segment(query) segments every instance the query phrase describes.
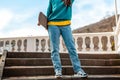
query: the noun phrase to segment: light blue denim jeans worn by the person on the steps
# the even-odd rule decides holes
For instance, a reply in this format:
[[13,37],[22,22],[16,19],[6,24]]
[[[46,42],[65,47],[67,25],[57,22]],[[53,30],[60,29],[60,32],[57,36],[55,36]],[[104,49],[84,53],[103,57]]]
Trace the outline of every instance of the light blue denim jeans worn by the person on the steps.
[[68,49],[74,72],[78,72],[80,70],[82,71],[80,60],[76,52],[71,27],[70,26],[62,26],[62,27],[48,26],[48,33],[50,37],[51,59],[52,59],[55,72],[62,71],[62,65],[61,65],[61,60],[59,55],[60,35],[62,35],[64,43]]

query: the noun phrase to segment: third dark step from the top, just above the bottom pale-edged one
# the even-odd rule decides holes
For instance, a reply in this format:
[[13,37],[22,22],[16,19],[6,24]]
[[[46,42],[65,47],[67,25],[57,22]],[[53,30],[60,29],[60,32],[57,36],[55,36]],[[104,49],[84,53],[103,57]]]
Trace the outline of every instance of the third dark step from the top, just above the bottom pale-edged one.
[[[86,73],[92,75],[120,74],[120,66],[82,66]],[[73,75],[72,66],[63,66],[63,75]],[[4,68],[4,77],[54,75],[53,66],[11,66]]]

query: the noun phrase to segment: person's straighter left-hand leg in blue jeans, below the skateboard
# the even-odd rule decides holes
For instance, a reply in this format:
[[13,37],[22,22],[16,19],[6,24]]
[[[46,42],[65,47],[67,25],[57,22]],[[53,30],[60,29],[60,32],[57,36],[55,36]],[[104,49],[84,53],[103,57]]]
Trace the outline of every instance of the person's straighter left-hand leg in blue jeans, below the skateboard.
[[60,30],[57,26],[49,26],[48,33],[51,46],[51,59],[55,70],[55,75],[62,75],[61,60],[59,55]]

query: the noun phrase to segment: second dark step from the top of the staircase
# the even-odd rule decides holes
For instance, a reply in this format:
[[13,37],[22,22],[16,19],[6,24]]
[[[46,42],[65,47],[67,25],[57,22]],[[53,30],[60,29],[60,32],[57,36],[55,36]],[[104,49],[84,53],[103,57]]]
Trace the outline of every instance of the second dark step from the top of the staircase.
[[[83,66],[119,66],[120,59],[81,59]],[[62,65],[71,65],[68,58],[61,58]],[[7,58],[6,66],[52,66],[50,58]]]

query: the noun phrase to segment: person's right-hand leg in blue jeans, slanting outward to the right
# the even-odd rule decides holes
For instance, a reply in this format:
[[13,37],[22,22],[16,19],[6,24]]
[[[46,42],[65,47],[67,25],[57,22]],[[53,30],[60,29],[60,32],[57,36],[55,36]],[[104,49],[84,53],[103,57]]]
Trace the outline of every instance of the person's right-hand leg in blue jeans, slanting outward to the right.
[[65,45],[68,49],[74,72],[78,73],[79,71],[81,71],[83,74],[85,74],[85,72],[81,68],[81,63],[78,58],[78,54],[76,52],[74,39],[72,36],[72,31],[71,31],[70,26],[61,27],[60,31],[61,31],[62,37],[64,39]]

